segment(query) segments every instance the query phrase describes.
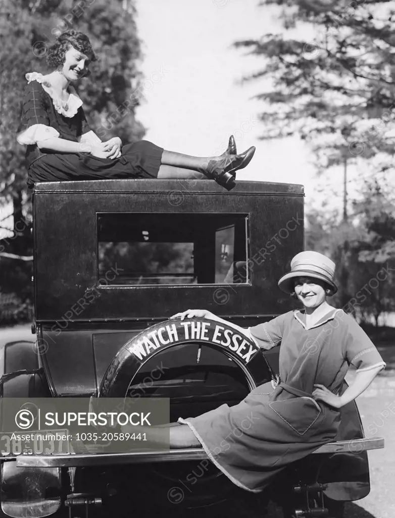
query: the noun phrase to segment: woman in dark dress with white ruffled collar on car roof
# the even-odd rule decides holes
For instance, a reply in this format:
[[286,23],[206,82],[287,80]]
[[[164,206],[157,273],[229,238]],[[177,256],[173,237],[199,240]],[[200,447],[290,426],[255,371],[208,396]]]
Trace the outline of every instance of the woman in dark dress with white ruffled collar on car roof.
[[49,74],[26,74],[22,129],[27,146],[28,185],[34,182],[108,178],[213,179],[228,191],[236,171],[246,167],[255,148],[237,154],[233,136],[220,156],[190,156],[166,151],[147,140],[122,145],[119,137],[102,142],[90,130],[82,100],[72,84],[89,74],[97,58],[89,38],[69,30],[47,53]]

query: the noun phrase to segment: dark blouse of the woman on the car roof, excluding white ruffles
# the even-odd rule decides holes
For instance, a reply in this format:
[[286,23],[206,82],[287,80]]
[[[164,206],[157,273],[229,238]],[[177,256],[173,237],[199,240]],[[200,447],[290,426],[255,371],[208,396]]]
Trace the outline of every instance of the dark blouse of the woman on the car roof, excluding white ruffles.
[[[59,138],[78,142],[79,137],[90,131],[84,110],[80,107],[74,117],[65,117],[58,113],[52,103],[51,96],[45,92],[41,84],[31,81],[25,87],[22,100],[22,118],[19,131],[27,130],[34,124],[51,126],[59,132]],[[36,144],[26,148],[26,161],[29,167],[39,159],[43,153]]]

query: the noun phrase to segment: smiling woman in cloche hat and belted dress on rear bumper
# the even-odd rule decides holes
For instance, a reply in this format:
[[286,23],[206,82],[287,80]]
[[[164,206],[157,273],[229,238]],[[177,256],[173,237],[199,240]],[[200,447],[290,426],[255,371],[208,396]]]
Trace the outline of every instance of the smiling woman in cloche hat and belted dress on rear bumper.
[[[328,304],[327,297],[337,291],[334,274],[335,264],[326,256],[297,254],[291,272],[278,284],[303,309],[248,329],[206,310],[172,316],[223,322],[262,349],[280,342],[281,347],[277,383],[256,387],[233,407],[221,405],[196,418],[179,418],[180,425],[169,428],[171,448],[201,445],[237,486],[260,492],[287,464],[336,438],[340,409],[366,390],[386,364],[357,322]],[[355,382],[339,395],[350,365],[357,369]],[[150,427],[149,437],[162,441],[163,428]]]

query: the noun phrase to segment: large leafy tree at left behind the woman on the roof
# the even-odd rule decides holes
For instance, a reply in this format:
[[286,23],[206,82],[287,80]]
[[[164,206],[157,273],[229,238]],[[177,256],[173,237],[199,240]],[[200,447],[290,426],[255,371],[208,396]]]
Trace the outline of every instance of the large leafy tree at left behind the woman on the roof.
[[[92,128],[102,130],[103,140],[119,135],[124,143],[140,140],[144,135],[144,128],[134,115],[139,104],[139,95],[134,92],[139,91],[141,82],[138,70],[141,49],[131,0],[2,0],[0,209],[11,204],[17,238],[3,239],[0,251],[32,254],[31,225],[25,224],[31,220],[31,205],[26,187],[24,147],[16,141],[25,74],[29,71],[48,73],[45,63],[48,48],[58,34],[69,28],[86,32],[99,58],[92,67],[92,75],[83,80],[79,88]],[[119,105],[130,98],[132,102],[119,110]],[[8,281],[12,279],[18,295],[32,298],[29,281],[32,265],[9,258],[0,258],[0,261],[0,291],[11,290]]]

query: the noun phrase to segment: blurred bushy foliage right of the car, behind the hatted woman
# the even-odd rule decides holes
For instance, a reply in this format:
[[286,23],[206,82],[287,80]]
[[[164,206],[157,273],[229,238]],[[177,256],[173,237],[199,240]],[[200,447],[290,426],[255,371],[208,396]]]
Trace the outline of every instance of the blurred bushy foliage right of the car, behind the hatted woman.
[[395,212],[388,193],[367,182],[347,222],[315,211],[308,215],[306,248],[337,264],[335,302],[361,321],[395,311]]

